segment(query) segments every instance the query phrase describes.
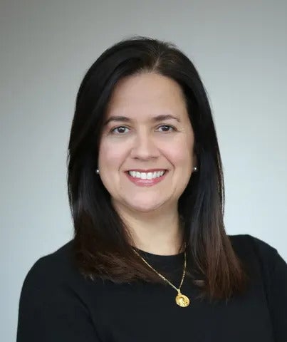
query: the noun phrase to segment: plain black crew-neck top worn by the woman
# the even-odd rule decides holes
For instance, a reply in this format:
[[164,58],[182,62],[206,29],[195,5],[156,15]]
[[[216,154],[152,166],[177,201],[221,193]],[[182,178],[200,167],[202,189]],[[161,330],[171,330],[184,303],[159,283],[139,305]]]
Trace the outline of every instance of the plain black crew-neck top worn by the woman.
[[[168,284],[113,284],[85,280],[73,266],[72,242],[42,257],[28,272],[21,291],[17,342],[286,342],[287,265],[276,249],[250,235],[229,237],[248,262],[251,284],[227,304],[190,299],[177,306]],[[179,286],[184,254],[145,253],[152,266],[174,270]]]

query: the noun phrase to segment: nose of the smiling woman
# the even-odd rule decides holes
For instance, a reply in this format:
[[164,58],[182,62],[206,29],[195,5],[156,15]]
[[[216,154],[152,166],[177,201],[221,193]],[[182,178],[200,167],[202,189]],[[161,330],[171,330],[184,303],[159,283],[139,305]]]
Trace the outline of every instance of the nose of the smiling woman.
[[150,160],[160,155],[155,140],[147,133],[138,133],[132,143],[131,157]]

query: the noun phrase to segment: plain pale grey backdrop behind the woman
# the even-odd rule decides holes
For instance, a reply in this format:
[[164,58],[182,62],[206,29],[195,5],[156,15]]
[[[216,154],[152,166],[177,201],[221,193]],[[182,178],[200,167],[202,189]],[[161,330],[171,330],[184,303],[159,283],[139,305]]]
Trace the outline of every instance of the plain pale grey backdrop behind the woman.
[[133,35],[177,44],[212,105],[228,234],[287,259],[287,1],[0,1],[0,338],[33,263],[73,235],[66,150],[85,71]]

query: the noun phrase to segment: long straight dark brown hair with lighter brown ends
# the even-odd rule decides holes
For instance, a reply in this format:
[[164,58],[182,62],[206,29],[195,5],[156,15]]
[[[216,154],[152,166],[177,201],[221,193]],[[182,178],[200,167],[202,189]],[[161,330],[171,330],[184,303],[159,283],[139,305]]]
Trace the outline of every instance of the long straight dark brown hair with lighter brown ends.
[[95,175],[103,118],[113,89],[121,78],[146,72],[177,81],[194,130],[199,171],[192,173],[178,205],[187,253],[194,261],[189,276],[202,296],[229,299],[244,290],[246,273],[224,229],[224,176],[207,93],[189,58],[174,44],[153,38],[136,36],[111,46],[80,84],[67,160],[76,264],[92,279],[162,281],[133,251],[128,229]]

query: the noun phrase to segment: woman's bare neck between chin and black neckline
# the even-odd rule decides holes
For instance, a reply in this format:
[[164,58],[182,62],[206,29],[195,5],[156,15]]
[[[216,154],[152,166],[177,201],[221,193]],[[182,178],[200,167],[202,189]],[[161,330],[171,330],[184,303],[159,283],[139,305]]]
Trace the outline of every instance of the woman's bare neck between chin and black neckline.
[[127,226],[133,247],[157,255],[183,252],[184,231],[177,208],[157,213],[132,213],[123,208],[117,211]]

